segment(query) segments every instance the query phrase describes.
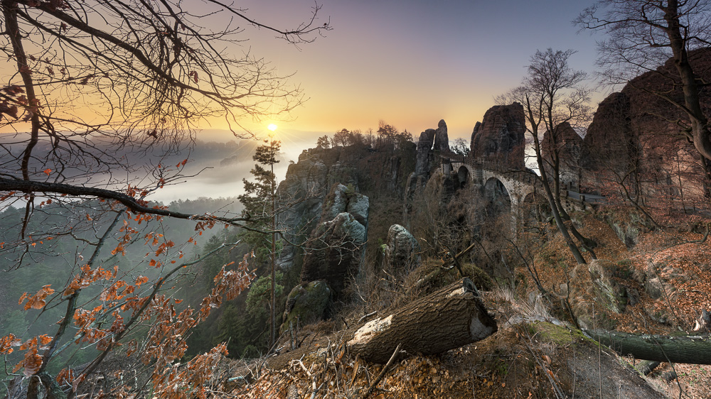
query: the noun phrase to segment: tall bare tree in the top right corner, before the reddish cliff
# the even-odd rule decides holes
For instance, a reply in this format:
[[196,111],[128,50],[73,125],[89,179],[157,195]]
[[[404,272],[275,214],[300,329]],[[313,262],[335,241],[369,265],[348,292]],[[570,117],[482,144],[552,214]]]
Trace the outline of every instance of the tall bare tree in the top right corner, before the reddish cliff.
[[[644,89],[688,116],[683,133],[702,157],[709,180],[711,128],[700,100],[700,92],[709,82],[700,79],[690,62],[690,52],[711,45],[711,4],[688,0],[600,0],[582,11],[574,22],[608,34],[599,43],[598,61],[608,82],[629,82],[648,71],[665,78],[671,89]],[[673,59],[675,73],[658,69],[669,58]],[[673,95],[677,88],[683,96]]]

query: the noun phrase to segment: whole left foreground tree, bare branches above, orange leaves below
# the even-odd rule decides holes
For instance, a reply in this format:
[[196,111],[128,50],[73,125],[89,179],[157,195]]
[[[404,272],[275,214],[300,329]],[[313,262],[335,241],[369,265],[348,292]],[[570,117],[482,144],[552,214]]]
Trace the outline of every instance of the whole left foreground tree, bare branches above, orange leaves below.
[[[0,138],[0,207],[24,209],[20,221],[5,212],[0,222],[18,231],[0,243],[4,261],[12,263],[4,272],[65,255],[53,253],[50,240],[68,237],[76,248],[65,285],[40,284],[35,295],[21,297],[26,310],[62,309],[64,317],[54,331],[15,351],[25,356],[13,372],[24,369],[27,397],[36,398],[42,395],[38,386],[53,389],[55,378],[44,374],[50,360],[73,347],[94,347],[99,354],[87,366],[60,378],[72,396],[113,349],[125,345],[156,366],[150,375],[156,394],[160,387],[196,394],[173,385],[179,374],[173,361],[185,352],[186,332],[253,276],[246,258],[237,270],[225,266],[201,310],[178,313],[179,300],[166,291],[185,273],[183,266],[197,261],[178,261],[186,249],[181,243],[137,225],[189,219],[199,234],[217,222],[243,226],[250,219],[173,212],[147,199],[187,177],[184,153],[193,129],[223,119],[235,136],[252,136],[242,118],[278,117],[303,101],[299,87],[243,50],[250,29],[298,44],[329,30],[328,21],[318,20],[316,4],[304,23],[279,29],[220,0],[0,0],[0,9],[0,49],[12,65],[1,75],[0,129],[11,133]],[[167,163],[181,153],[184,160]],[[144,240],[151,247],[145,260],[119,268],[112,256]],[[43,278],[48,276],[38,275],[38,283]],[[144,344],[134,339],[141,329],[148,335]],[[20,338],[0,337],[0,354],[11,354]],[[178,385],[189,382],[183,380]]]

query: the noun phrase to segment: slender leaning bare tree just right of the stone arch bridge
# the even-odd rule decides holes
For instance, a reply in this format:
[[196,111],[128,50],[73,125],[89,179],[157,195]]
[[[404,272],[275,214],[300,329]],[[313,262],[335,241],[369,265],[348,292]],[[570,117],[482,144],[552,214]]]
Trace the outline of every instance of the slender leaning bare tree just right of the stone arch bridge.
[[[545,52],[536,51],[531,56],[528,75],[521,85],[499,96],[497,102],[523,104],[526,129],[533,136],[540,182],[545,190],[553,218],[575,260],[578,263],[585,263],[570,232],[588,250],[592,249],[591,245],[578,233],[572,223],[565,223],[570,221],[570,217],[560,201],[560,143],[557,140],[561,135],[558,129],[566,122],[577,126],[580,121],[587,119],[589,114],[589,106],[587,106],[589,90],[582,87],[582,82],[587,75],[585,72],[570,68],[568,58],[573,54],[573,50],[553,51],[550,48]],[[549,132],[547,138],[550,143],[546,143],[546,146],[550,149],[550,155],[544,158],[542,136],[546,131]]]

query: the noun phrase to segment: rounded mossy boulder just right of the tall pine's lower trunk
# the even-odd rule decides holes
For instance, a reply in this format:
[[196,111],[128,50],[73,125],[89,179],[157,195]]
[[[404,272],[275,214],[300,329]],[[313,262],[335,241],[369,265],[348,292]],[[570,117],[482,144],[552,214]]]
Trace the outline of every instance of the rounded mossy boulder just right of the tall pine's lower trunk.
[[287,297],[282,332],[289,328],[296,329],[297,324],[301,327],[324,319],[330,301],[331,288],[325,281],[296,285]]

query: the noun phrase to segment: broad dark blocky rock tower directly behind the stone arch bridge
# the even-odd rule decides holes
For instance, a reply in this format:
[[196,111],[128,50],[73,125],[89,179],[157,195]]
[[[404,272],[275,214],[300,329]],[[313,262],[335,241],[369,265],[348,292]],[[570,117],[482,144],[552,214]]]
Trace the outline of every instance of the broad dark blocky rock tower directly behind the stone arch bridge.
[[526,131],[523,105],[492,106],[471,133],[471,154],[475,159],[508,168],[525,168],[523,159]]

